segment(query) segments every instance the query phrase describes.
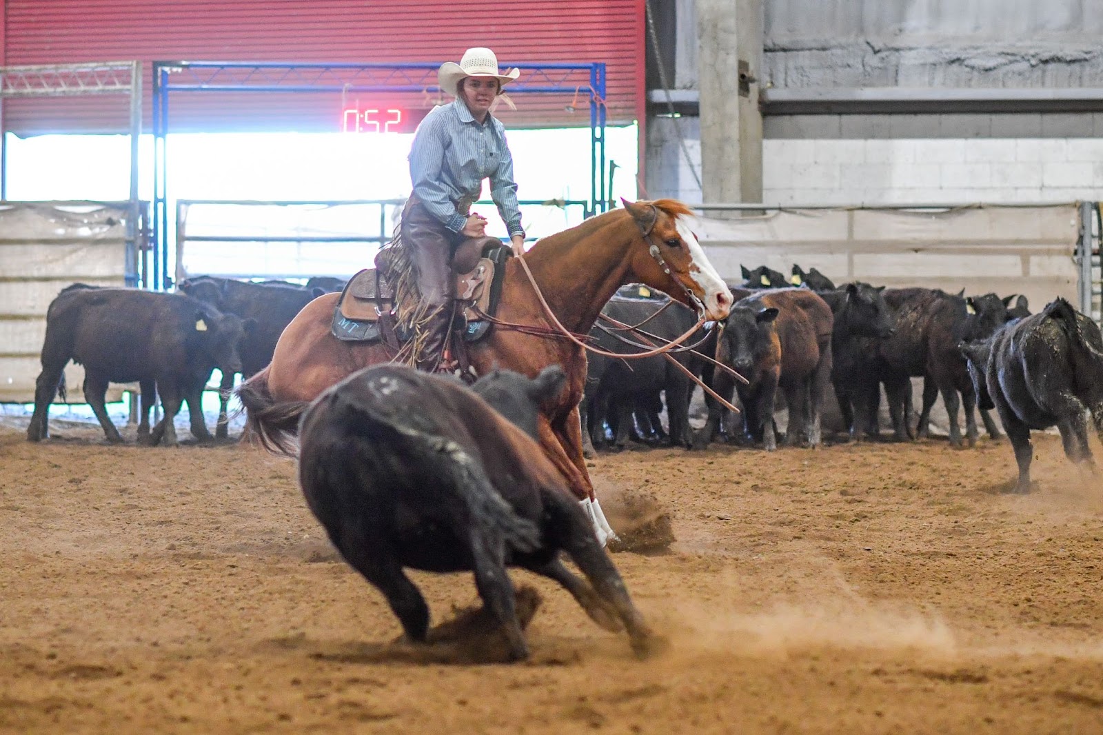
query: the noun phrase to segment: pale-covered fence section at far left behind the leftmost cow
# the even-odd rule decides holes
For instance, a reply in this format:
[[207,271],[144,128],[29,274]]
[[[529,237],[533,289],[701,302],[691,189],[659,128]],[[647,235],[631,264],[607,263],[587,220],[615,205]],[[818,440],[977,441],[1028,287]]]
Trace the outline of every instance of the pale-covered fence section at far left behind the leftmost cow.
[[[46,309],[74,283],[126,286],[138,270],[131,202],[0,202],[0,403],[34,401]],[[84,403],[84,369],[65,369],[69,403]],[[126,386],[113,385],[108,401]]]

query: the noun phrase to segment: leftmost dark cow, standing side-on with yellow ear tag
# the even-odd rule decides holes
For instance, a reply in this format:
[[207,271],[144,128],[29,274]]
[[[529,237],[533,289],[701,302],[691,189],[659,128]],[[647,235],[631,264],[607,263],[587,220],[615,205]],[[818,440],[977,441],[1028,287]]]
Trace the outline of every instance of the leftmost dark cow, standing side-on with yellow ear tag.
[[[237,343],[246,327],[234,315],[179,294],[65,289],[46,311],[42,373],[35,383],[34,414],[26,438],[39,441],[49,436],[50,403],[63,383],[65,365],[73,360],[84,365],[85,398],[108,441],[122,441],[104,407],[108,383],[136,381],[142,387],[142,423],[147,427],[154,384],[161,394],[164,418],[151,433],[152,444],[162,437],[168,445],[176,443],[173,418],[182,401],[188,402],[192,435],[210,440],[203,422],[203,388],[215,368],[240,370]],[[139,430],[141,435],[141,427]]]

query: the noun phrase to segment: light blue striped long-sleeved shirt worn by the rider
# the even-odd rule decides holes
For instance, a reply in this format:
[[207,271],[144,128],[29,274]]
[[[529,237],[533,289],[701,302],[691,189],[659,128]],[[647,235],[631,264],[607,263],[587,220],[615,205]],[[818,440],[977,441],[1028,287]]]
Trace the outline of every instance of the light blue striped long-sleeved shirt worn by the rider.
[[525,234],[505,127],[492,115],[480,124],[459,99],[435,108],[417,127],[409,161],[414,195],[452,232],[467,221],[457,202],[478,200],[482,180],[490,179],[491,199],[510,235]]

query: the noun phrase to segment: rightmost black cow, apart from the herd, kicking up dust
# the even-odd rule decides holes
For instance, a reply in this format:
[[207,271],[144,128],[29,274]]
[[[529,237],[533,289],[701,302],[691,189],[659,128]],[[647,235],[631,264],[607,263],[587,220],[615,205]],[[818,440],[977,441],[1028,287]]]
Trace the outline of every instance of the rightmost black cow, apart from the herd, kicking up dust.
[[982,408],[1004,422],[1019,466],[1016,492],[1030,491],[1030,429],[1057,426],[1064,454],[1095,470],[1085,412],[1103,441],[1103,337],[1064,299],[1011,322],[981,342],[963,342]]

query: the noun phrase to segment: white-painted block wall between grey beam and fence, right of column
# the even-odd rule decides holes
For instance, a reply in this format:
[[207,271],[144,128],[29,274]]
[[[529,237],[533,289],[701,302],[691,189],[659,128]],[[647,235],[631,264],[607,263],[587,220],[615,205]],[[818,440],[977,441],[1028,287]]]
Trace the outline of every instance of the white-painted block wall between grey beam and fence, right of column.
[[762,177],[771,204],[1103,200],[1103,139],[768,139]]

